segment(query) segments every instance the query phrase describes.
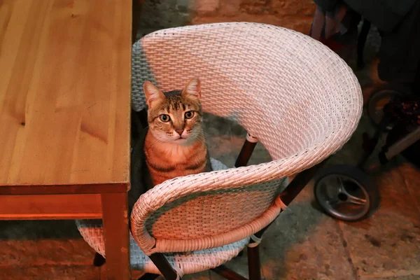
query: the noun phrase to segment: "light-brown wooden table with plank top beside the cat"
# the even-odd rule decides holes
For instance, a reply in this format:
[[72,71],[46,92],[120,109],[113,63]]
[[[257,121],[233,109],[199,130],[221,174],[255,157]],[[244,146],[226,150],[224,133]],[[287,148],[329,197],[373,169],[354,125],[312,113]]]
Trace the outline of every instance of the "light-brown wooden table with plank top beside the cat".
[[0,219],[102,218],[109,279],[130,278],[131,19],[131,0],[0,1]]

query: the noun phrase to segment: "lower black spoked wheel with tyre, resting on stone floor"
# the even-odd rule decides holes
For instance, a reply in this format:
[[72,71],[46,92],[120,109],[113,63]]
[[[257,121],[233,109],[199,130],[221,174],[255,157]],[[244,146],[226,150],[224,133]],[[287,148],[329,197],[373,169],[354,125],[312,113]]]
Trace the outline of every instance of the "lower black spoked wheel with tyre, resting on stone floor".
[[360,221],[379,206],[379,192],[367,174],[356,167],[337,165],[318,175],[314,194],[322,209],[342,221]]

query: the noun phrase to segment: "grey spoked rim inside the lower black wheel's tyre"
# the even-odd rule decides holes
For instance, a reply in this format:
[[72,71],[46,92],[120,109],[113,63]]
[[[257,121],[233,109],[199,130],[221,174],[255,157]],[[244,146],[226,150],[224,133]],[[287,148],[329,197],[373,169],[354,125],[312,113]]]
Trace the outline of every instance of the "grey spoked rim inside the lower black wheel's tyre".
[[340,174],[320,179],[316,184],[316,198],[325,211],[345,221],[363,218],[370,207],[365,188],[351,177]]

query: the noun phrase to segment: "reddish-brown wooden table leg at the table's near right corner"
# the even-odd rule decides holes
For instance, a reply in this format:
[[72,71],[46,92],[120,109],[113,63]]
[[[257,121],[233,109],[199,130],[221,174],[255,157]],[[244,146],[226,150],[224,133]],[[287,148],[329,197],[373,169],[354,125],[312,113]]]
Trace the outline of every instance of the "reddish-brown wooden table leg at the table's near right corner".
[[131,276],[127,193],[104,193],[101,197],[108,280],[128,280]]

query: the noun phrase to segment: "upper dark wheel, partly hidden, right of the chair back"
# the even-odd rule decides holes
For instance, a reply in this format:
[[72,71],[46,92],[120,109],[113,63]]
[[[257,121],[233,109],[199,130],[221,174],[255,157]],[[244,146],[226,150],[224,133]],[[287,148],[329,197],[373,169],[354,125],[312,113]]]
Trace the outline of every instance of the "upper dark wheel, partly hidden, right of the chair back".
[[[384,106],[394,97],[402,97],[412,94],[412,91],[404,85],[386,83],[377,87],[370,94],[367,102],[367,114],[374,125],[379,125],[384,117]],[[391,130],[392,124],[386,127],[386,130]]]

